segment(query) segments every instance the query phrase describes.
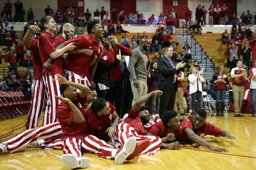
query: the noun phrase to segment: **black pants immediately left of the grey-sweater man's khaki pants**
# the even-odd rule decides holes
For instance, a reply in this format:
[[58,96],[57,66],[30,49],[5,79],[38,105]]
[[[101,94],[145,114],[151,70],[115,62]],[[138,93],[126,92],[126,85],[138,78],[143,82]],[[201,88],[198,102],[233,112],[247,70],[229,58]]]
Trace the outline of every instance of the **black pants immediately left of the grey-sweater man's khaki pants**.
[[131,82],[124,82],[123,86],[123,95],[122,95],[122,108],[121,108],[121,118],[126,114],[129,113],[130,109],[132,108],[132,100],[133,100],[133,94],[132,94],[132,86]]

